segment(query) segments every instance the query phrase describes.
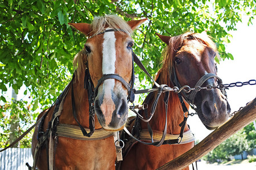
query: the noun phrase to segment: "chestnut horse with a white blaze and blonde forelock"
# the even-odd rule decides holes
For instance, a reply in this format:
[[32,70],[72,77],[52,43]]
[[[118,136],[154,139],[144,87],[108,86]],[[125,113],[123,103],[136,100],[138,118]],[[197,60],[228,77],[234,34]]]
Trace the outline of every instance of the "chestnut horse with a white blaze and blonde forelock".
[[[70,23],[88,40],[74,59],[77,69],[61,100],[38,117],[44,118],[32,138],[32,153],[38,153],[34,169],[115,168],[111,131],[121,130],[127,120],[127,97],[133,86],[131,33],[144,20],[126,23],[107,15],[91,24]],[[84,136],[85,128],[90,132],[83,131]]]

